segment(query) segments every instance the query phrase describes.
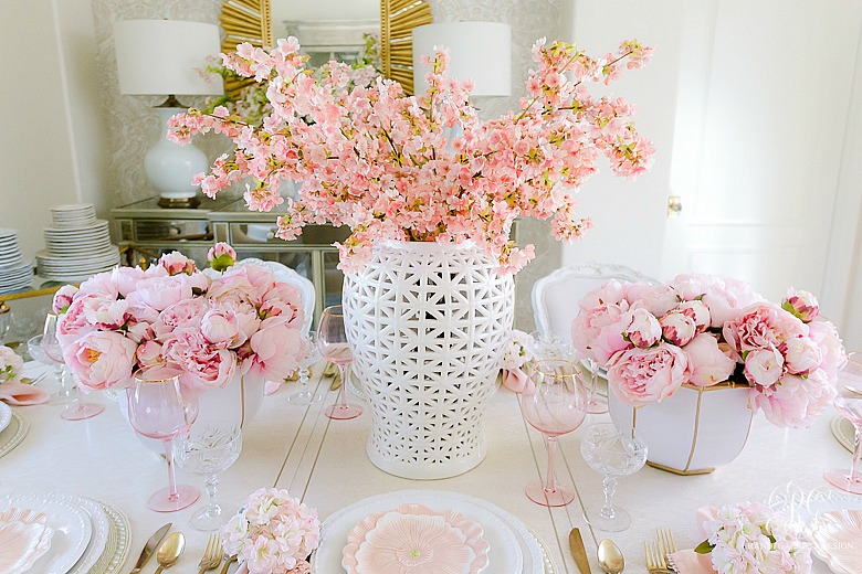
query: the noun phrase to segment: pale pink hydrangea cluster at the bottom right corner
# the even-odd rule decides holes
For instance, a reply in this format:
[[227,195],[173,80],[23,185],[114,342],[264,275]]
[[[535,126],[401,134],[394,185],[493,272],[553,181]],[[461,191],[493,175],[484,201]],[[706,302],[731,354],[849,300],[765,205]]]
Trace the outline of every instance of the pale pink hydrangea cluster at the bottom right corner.
[[706,540],[695,552],[709,554],[723,574],[808,574],[811,545],[769,507],[743,502],[697,511]]

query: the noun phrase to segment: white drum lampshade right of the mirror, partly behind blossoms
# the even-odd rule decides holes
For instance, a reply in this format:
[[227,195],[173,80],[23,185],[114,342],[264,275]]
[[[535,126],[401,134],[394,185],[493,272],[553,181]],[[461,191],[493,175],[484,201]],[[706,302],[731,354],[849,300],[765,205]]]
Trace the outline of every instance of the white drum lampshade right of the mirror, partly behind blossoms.
[[512,28],[496,22],[448,22],[413,29],[413,86],[417,94],[428,89],[428,66],[421,56],[434,55],[434,46],[445,46],[452,56],[449,74],[458,79],[473,78],[474,96],[512,95]]

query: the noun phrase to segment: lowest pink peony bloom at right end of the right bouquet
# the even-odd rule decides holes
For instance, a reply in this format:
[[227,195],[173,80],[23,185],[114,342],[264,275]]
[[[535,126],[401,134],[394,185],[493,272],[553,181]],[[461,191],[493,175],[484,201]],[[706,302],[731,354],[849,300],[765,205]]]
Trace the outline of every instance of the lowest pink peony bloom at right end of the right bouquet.
[[811,426],[835,398],[835,389],[822,369],[812,371],[808,376],[785,375],[769,391],[765,393],[753,387],[751,404],[761,408],[770,423],[791,428]]

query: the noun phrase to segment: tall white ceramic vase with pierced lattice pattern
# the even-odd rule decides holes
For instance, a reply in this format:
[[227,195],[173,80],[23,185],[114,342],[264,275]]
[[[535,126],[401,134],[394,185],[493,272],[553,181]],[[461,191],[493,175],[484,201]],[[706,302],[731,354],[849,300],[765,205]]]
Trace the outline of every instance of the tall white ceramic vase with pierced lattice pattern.
[[485,457],[485,401],[514,319],[515,284],[475,245],[387,242],[345,277],[353,369],[370,403],[367,453],[403,478]]

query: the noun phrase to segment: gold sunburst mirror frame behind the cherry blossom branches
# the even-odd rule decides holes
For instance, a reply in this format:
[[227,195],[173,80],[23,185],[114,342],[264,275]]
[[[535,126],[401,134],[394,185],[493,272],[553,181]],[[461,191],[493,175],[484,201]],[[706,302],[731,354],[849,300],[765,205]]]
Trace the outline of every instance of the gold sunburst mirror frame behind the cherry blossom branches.
[[[259,47],[271,46],[272,18],[270,0],[224,0],[219,15],[224,40],[222,52],[233,52],[236,44],[249,42]],[[399,82],[408,94],[413,93],[413,39],[411,31],[433,21],[431,6],[423,0],[380,0],[380,62],[386,77]],[[224,93],[236,98],[251,85],[251,78],[228,78]]]

